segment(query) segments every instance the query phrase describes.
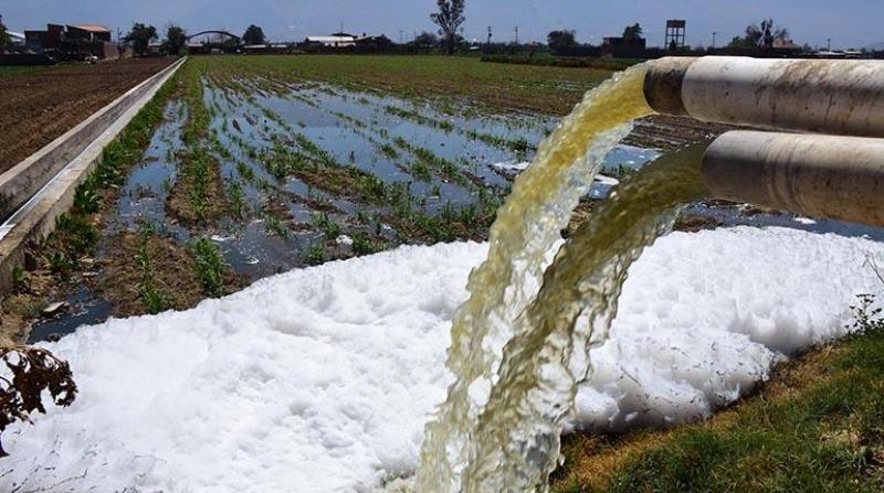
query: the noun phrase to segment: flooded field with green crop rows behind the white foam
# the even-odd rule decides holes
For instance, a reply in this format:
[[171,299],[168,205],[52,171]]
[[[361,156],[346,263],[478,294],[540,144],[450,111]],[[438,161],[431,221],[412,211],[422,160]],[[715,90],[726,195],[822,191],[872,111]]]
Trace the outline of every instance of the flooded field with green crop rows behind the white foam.
[[[18,323],[34,321],[32,341],[108,317],[186,309],[302,266],[403,244],[485,240],[513,179],[559,120],[430,90],[311,78],[297,71],[306,58],[286,60],[284,69],[261,57],[194,58],[182,68],[155,101],[140,147],[120,151],[125,159],[106,156],[127,164],[87,184],[78,193],[85,204],[35,248],[36,266],[22,272],[28,282],[13,300]],[[660,154],[614,148],[570,229]],[[722,203],[688,207],[676,227],[737,224],[881,237]]]

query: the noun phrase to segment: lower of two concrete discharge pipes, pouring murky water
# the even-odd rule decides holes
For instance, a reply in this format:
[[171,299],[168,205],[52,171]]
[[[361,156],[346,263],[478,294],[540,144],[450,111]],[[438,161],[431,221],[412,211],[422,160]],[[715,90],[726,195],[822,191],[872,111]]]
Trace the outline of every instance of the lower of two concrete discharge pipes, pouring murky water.
[[884,227],[884,139],[730,131],[703,175],[715,199]]

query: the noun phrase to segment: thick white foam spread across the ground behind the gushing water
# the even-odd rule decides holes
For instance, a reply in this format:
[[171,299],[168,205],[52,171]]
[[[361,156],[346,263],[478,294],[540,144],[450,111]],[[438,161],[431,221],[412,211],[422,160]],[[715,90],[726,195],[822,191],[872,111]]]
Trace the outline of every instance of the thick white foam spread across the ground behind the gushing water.
[[[404,247],[48,344],[81,394],[4,433],[0,490],[351,492],[408,473],[449,383],[449,322],[485,251]],[[780,228],[661,239],[591,354],[580,420],[708,416],[781,353],[844,333],[854,296],[877,289],[870,253],[884,259],[884,245]]]

